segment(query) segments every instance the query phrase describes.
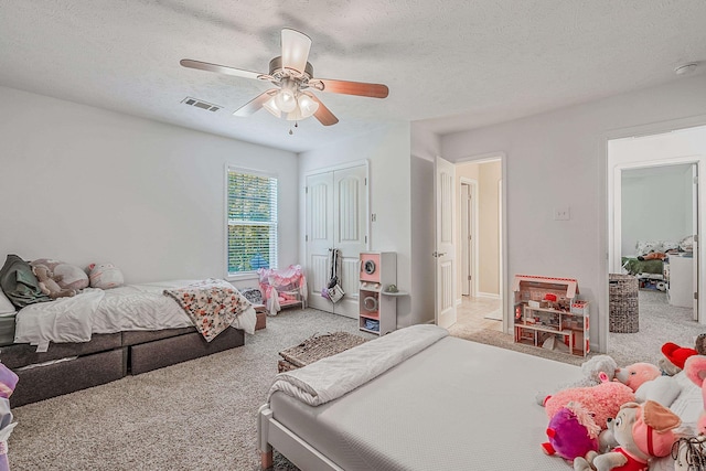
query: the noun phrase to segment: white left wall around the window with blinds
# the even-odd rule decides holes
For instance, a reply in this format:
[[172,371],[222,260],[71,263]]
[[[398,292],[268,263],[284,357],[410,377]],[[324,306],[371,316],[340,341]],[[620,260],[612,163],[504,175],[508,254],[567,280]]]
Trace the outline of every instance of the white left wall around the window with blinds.
[[296,154],[6,87],[0,103],[2,260],[111,261],[127,282],[224,277],[231,163],[278,174],[279,263],[297,263]]

